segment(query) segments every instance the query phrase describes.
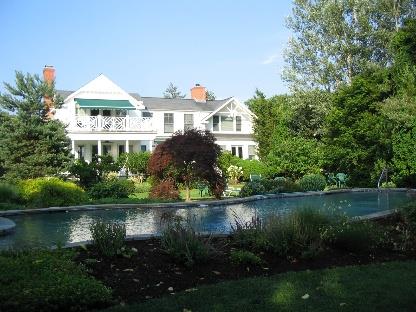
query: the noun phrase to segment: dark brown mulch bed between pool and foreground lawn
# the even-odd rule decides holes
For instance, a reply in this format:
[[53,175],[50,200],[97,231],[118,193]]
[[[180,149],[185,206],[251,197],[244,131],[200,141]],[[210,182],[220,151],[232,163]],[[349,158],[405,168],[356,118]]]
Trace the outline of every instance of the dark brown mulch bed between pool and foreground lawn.
[[[380,221],[381,223],[391,223]],[[237,266],[229,260],[232,243],[229,237],[214,238],[213,245],[218,254],[206,263],[188,268],[172,261],[163,252],[160,240],[129,241],[138,253],[131,258],[102,258],[89,247],[79,250],[77,261],[89,269],[91,275],[113,289],[119,302],[140,302],[150,298],[193,291],[200,285],[253,276],[268,276],[276,273],[314,270],[334,266],[368,264],[392,260],[416,259],[415,255],[391,250],[379,250],[371,254],[354,254],[341,250],[327,250],[313,259],[284,260],[273,254],[260,254],[261,266]],[[90,260],[90,259],[96,259]]]

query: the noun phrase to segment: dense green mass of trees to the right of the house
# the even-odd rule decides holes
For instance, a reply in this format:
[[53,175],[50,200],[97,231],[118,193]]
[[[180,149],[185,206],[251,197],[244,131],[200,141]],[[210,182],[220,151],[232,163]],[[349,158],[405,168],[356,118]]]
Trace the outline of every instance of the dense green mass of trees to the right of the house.
[[[305,3],[297,1],[294,14],[299,7],[313,6]],[[400,3],[402,7],[407,4]],[[378,49],[385,57],[377,62],[355,55],[354,59],[368,58],[357,61],[360,68],[350,78],[343,69],[346,79],[331,87],[297,80],[291,84],[290,95],[266,98],[256,91],[247,105],[257,115],[258,152],[272,175],[299,178],[305,173],[345,172],[349,185],[374,187],[382,169],[388,168],[398,186],[416,185],[416,20],[407,18],[414,8],[408,10],[396,16],[392,29],[384,29],[387,41]],[[302,14],[307,19],[305,15],[314,11]],[[299,57],[302,62],[312,61],[305,55]],[[305,70],[290,60],[287,69],[297,71],[298,77]],[[309,74],[310,79],[330,76],[319,71]]]

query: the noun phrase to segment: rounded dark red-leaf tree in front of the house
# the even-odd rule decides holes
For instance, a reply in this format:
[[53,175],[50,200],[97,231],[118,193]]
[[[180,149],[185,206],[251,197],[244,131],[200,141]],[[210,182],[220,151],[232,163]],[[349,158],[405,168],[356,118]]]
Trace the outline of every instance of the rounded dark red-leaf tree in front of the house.
[[220,152],[211,132],[178,131],[156,147],[148,171],[156,182],[171,179],[176,184],[183,184],[187,201],[192,184],[196,182],[206,183],[211,193],[220,198],[225,188],[225,178],[217,164]]

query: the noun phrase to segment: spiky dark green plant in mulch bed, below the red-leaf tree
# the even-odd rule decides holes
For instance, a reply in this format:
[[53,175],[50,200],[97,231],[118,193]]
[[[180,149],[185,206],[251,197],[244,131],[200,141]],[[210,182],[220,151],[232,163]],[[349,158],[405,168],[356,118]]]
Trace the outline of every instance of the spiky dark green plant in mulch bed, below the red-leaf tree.
[[188,267],[208,260],[212,252],[210,239],[199,235],[190,219],[168,217],[163,221],[161,246],[167,254]]

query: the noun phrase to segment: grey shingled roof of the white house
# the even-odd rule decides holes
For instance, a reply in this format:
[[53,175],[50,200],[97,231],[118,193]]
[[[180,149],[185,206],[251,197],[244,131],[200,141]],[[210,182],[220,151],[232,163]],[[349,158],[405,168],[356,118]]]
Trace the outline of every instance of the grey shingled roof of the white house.
[[[57,93],[66,99],[74,91],[57,90]],[[197,102],[193,99],[166,99],[158,97],[142,97],[137,93],[129,93],[138,101],[143,101],[143,105],[149,110],[164,111],[216,111],[224,105],[230,98],[224,100],[206,101],[205,103]]]

